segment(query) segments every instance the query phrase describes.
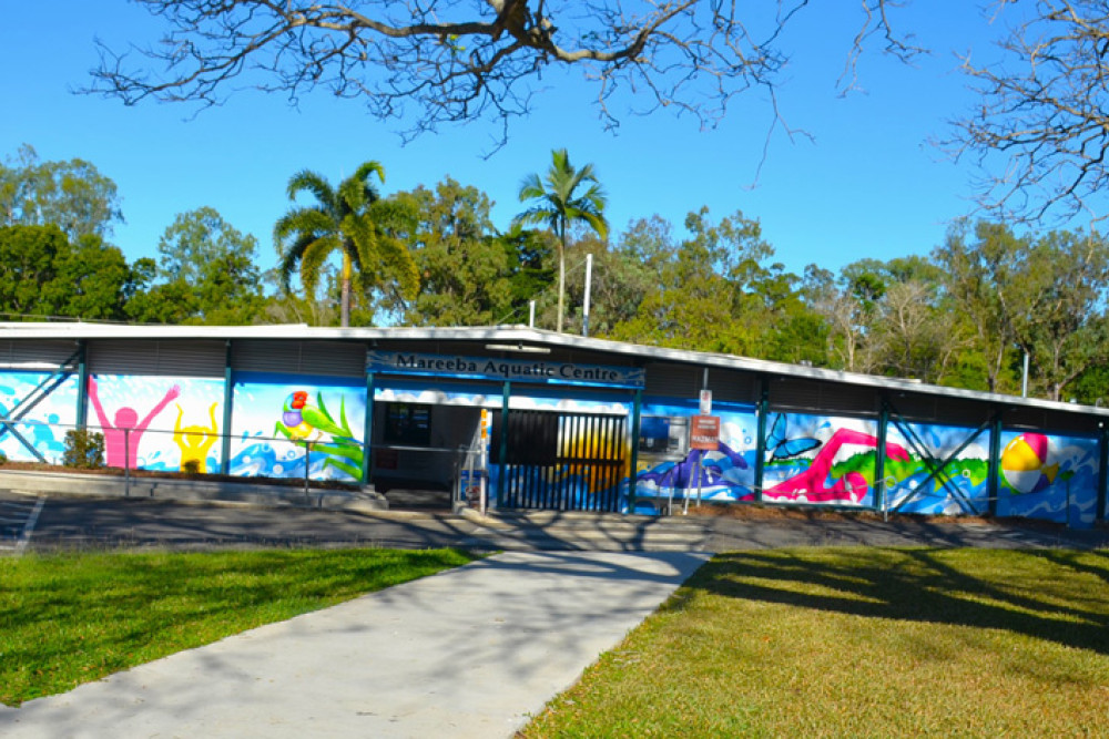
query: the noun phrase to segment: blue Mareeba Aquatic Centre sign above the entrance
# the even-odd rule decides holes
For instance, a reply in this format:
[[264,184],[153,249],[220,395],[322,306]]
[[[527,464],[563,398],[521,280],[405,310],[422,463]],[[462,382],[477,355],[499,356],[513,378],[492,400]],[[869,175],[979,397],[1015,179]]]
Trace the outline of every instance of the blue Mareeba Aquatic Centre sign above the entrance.
[[602,384],[641,388],[645,373],[638,367],[607,367],[552,362],[543,359],[497,359],[455,355],[420,355],[408,351],[368,351],[367,372],[424,374],[566,384]]

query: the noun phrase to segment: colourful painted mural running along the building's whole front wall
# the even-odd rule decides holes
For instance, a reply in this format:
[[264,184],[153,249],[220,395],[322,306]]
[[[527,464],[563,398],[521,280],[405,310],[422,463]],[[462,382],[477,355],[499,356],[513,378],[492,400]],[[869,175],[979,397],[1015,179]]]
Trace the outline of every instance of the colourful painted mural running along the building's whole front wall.
[[[230,432],[232,474],[303,478],[307,472],[316,480],[362,479],[363,378],[240,372],[232,391],[234,412],[227,430],[221,428],[222,379],[96,374],[88,384],[89,425],[104,434],[105,461],[112,466],[217,472],[223,462],[220,441]],[[12,427],[0,424],[0,451],[12,460],[33,461],[41,454],[48,462],[60,463],[64,432],[77,422],[77,377],[0,372],[0,417],[19,413],[20,403],[32,392],[42,397],[27,414]],[[375,388],[375,400],[454,407],[452,414],[440,417],[447,427],[457,425],[458,420],[472,421],[467,413],[477,410],[467,408],[498,412],[501,407],[500,388],[478,382],[431,388],[428,382],[390,380]],[[513,394],[510,406],[612,414],[624,423],[632,411],[627,391],[567,398],[563,390],[547,387]],[[644,399],[637,440],[635,512],[653,513],[671,496],[694,495],[699,484],[708,501],[755,499],[754,406],[715,403],[721,443],[714,452],[688,449],[688,422],[695,413],[693,399]],[[614,438],[614,433],[606,428],[559,429],[557,443],[580,452],[572,455],[611,458],[607,434]],[[875,419],[771,413],[765,434],[762,499],[767,502],[881,504],[891,511],[929,515],[980,514],[990,509],[988,431],[892,421],[884,450],[884,502],[875,495]],[[999,441],[997,515],[1092,525],[1098,496],[1097,438],[1006,430]],[[306,443],[312,445],[307,459]],[[937,472],[934,465],[939,463]],[[499,482],[496,466],[489,471],[491,495]],[[577,474],[576,484],[582,491],[612,489],[612,478],[599,466],[582,463],[581,468],[580,472],[568,468],[563,479],[554,482],[561,484],[567,475]],[[618,484],[623,490],[627,471],[617,476],[622,478]]]

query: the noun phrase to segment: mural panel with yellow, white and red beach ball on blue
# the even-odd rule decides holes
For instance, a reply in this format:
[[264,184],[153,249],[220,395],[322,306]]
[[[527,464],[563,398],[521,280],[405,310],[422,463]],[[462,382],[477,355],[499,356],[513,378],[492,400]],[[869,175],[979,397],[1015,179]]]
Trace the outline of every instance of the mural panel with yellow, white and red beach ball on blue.
[[1003,431],[997,515],[1090,526],[1097,514],[1098,440]]

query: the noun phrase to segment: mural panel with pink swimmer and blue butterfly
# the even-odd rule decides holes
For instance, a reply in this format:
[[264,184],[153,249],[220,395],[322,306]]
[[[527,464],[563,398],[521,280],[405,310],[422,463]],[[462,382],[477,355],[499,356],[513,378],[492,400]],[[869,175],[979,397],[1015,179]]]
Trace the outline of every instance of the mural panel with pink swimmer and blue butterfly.
[[[874,505],[876,421],[771,413],[766,429],[764,501]],[[886,454],[908,459],[904,447],[888,440]]]

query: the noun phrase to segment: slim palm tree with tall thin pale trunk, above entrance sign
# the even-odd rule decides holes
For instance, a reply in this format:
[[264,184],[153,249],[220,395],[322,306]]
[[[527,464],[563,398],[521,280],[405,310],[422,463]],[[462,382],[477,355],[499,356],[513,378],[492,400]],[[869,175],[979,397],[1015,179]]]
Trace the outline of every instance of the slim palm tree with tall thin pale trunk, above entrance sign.
[[[583,183],[589,187],[580,196],[574,197],[574,191]],[[558,325],[562,332],[562,296],[566,291],[566,239],[567,226],[573,222],[583,222],[597,232],[601,238],[608,236],[609,224],[604,219],[607,198],[604,191],[597,182],[593,165],[587,164],[580,170],[570,164],[570,155],[564,148],[551,152],[551,166],[547,176],[530,174],[520,183],[520,202],[533,202],[530,208],[516,216],[516,222],[523,225],[547,225],[559,239],[558,252]]]

